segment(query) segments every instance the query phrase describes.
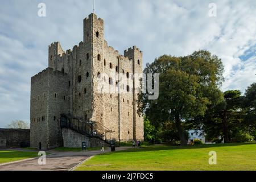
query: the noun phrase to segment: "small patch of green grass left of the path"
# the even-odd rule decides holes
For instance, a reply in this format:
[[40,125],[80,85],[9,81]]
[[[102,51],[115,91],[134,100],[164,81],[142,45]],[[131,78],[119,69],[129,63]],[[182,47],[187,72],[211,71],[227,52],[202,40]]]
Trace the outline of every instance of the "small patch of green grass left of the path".
[[37,156],[38,152],[0,151],[0,164],[14,162],[16,160],[35,158]]

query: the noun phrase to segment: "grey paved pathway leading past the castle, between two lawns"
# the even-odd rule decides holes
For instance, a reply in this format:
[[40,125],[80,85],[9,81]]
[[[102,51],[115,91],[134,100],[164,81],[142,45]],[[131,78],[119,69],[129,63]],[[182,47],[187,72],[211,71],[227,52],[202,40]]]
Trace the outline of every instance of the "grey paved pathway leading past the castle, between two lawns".
[[[127,147],[117,147],[117,151],[126,150]],[[46,165],[40,166],[38,158],[26,160],[23,162],[16,162],[0,166],[0,171],[49,171],[59,170],[67,171],[75,167],[90,156],[101,154],[101,151],[88,151],[88,152],[60,152],[60,151],[47,151],[51,155],[46,158]],[[110,148],[105,150],[110,152]]]

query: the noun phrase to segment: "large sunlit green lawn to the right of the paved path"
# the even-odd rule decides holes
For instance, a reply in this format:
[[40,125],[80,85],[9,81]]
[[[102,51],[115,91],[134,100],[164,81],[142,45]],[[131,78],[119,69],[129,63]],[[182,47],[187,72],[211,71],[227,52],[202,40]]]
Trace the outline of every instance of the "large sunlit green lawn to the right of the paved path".
[[[217,165],[209,165],[210,151],[217,152]],[[256,143],[131,148],[94,156],[76,170],[256,170]]]

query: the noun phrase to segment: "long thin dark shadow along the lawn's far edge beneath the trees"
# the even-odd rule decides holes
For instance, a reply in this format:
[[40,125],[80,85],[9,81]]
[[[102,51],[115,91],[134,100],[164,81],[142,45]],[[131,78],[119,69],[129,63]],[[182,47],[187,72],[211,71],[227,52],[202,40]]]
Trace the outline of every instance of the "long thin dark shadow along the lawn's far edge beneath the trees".
[[[183,149],[198,149],[198,148],[216,148],[216,147],[232,147],[232,146],[247,146],[256,143],[221,143],[221,144],[201,144],[195,146],[167,146],[167,145],[154,145],[154,146],[143,146],[142,148],[129,148],[125,151],[116,151],[115,153],[122,152],[146,152],[146,151],[160,151],[160,150],[183,150]],[[100,154],[100,155],[111,155],[113,152]]]

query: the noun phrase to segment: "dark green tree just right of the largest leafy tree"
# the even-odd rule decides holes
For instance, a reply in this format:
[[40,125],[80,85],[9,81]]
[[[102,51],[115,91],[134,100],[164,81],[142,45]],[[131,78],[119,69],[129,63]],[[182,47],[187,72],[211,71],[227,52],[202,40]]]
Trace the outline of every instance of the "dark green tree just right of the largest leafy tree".
[[209,138],[221,136],[225,143],[230,142],[245,127],[240,90],[224,92],[222,102],[209,106],[201,121]]

